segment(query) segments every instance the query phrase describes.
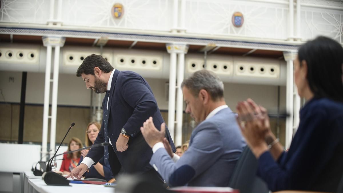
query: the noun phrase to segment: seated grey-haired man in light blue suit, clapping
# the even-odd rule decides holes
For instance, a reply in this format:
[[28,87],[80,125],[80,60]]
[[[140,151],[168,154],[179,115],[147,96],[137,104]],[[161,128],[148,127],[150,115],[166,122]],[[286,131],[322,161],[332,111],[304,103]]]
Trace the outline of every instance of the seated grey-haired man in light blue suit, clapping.
[[186,113],[199,125],[188,150],[177,158],[163,143],[165,124],[158,131],[152,117],[146,120],[141,131],[154,153],[150,164],[169,186],[227,186],[246,144],[235,113],[225,103],[223,82],[214,73],[200,70],[184,80],[181,88]]

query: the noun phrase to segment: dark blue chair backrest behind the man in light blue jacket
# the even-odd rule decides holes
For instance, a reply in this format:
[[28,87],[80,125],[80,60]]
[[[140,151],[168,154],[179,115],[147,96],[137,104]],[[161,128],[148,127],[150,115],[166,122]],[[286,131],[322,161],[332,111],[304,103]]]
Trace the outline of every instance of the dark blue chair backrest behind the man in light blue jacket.
[[267,184],[256,175],[257,159],[246,146],[236,164],[229,187],[239,189],[240,193],[268,193]]

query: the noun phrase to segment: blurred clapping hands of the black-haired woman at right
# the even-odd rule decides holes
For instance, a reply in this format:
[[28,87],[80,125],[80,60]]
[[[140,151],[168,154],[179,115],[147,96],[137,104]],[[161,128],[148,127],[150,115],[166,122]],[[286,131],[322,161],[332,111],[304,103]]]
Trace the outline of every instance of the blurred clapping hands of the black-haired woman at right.
[[245,137],[248,146],[258,158],[268,150],[265,136],[271,133],[267,110],[258,106],[253,100],[239,102],[237,104],[237,123]]

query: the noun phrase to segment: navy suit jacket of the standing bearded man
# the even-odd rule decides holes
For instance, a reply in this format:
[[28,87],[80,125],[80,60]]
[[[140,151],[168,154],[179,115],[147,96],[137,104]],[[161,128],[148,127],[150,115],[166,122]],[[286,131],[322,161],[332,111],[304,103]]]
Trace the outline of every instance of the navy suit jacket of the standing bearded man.
[[[107,98],[103,100],[103,108],[106,108],[104,106],[105,100]],[[135,72],[115,70],[111,83],[108,109],[108,137],[122,169],[128,173],[143,173],[152,169],[149,164],[153,154],[152,149],[144,140],[140,127],[150,116],[153,117],[157,129],[161,128],[164,120],[149,84]],[[129,147],[124,152],[118,152],[116,148],[116,141],[121,128],[124,128],[126,134],[130,136]],[[175,152],[175,145],[171,140],[168,128],[166,128],[166,138]],[[102,124],[94,144],[102,142],[104,142],[104,124]],[[87,157],[92,158],[96,163],[104,156],[103,150],[103,147],[91,148]]]

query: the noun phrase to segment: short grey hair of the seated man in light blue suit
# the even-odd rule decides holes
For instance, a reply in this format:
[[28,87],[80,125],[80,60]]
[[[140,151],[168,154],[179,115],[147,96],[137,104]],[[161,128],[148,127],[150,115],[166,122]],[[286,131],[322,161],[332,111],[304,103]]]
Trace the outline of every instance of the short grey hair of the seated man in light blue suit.
[[189,78],[181,83],[181,89],[186,87],[194,97],[198,97],[201,89],[209,92],[213,101],[224,97],[223,81],[213,72],[199,70],[194,72]]

